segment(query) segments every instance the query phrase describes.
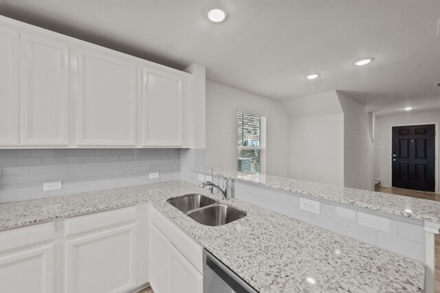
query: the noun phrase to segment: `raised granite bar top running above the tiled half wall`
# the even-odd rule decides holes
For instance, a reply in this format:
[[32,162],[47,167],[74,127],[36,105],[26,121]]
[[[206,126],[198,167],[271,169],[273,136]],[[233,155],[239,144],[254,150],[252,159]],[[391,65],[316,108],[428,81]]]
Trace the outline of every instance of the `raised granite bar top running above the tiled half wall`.
[[[206,171],[206,169],[195,171],[211,175],[211,172]],[[434,202],[428,199],[365,191],[362,189],[308,182],[273,175],[229,170],[214,169],[214,175],[228,177],[232,180],[259,184],[261,186],[275,188],[281,191],[309,195],[311,197],[327,199],[332,202],[360,206],[362,208],[379,210],[385,213],[392,213],[440,224],[440,202]]]

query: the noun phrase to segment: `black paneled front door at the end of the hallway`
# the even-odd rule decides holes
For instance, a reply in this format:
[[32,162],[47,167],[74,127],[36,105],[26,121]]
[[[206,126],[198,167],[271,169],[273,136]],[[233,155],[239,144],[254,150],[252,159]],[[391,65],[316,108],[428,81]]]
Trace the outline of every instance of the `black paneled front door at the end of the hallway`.
[[434,124],[393,127],[391,160],[394,187],[434,191]]

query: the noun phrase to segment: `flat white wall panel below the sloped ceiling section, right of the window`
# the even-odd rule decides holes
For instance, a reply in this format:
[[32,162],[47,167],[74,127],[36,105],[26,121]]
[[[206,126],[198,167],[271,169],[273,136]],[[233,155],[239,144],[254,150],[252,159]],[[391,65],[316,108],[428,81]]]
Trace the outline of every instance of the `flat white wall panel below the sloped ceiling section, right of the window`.
[[344,114],[290,121],[290,177],[344,185]]

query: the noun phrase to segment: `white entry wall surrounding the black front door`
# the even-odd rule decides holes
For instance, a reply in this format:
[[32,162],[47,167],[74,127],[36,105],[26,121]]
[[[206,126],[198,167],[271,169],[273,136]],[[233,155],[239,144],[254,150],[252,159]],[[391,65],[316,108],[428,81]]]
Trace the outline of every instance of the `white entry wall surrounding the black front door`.
[[[440,111],[426,111],[418,113],[401,113],[397,115],[379,116],[375,120],[375,148],[374,148],[374,177],[381,180],[382,186],[391,186],[391,127],[406,124],[430,124],[440,122]],[[437,137],[440,137],[437,133]],[[437,160],[439,158],[436,141]],[[378,149],[384,146],[384,149]],[[439,174],[437,182],[440,181]]]

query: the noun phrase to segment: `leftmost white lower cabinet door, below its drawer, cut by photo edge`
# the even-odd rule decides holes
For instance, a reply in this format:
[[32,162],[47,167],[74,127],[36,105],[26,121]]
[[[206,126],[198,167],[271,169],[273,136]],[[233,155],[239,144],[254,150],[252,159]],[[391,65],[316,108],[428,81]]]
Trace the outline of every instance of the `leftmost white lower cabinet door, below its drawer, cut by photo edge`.
[[0,256],[0,292],[54,292],[54,244]]

